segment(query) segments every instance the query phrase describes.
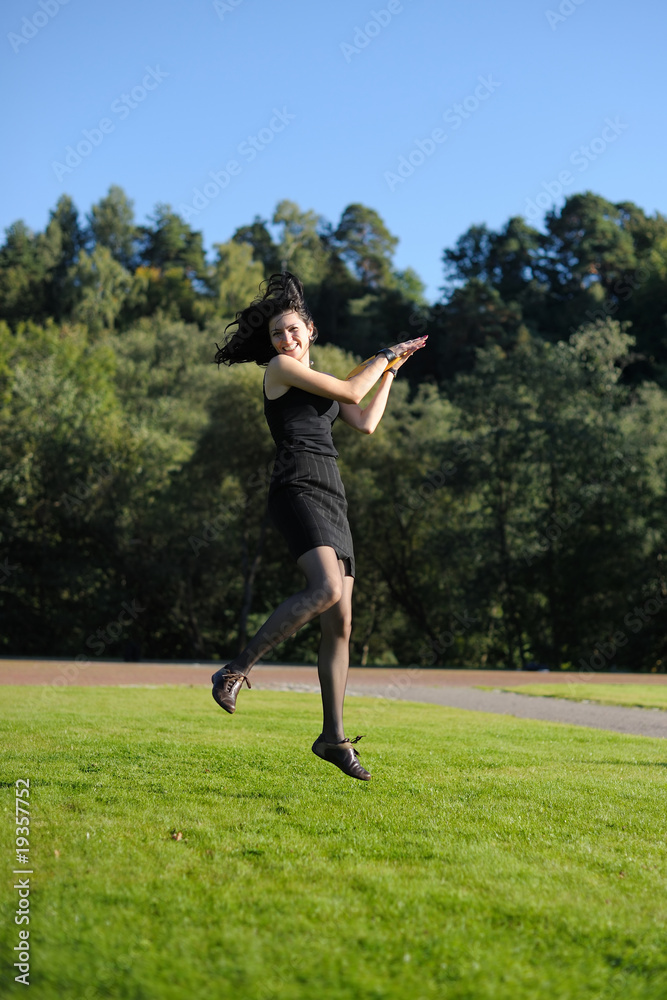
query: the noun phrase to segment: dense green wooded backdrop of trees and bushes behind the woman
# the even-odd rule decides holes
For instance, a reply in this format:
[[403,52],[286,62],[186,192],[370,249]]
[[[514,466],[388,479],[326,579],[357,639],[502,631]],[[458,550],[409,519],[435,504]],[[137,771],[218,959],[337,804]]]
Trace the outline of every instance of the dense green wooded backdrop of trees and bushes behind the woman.
[[[364,205],[334,226],[284,201],[210,262],[119,188],[85,225],[63,196],[43,233],[10,227],[0,652],[224,658],[301,587],[266,519],[262,371],[211,360],[289,267],[321,370],[429,333],[376,433],[335,430],[354,660],[665,669],[667,220],[587,193],[544,232],[473,226],[433,306],[396,242]],[[307,626],[278,655],[316,646]]]

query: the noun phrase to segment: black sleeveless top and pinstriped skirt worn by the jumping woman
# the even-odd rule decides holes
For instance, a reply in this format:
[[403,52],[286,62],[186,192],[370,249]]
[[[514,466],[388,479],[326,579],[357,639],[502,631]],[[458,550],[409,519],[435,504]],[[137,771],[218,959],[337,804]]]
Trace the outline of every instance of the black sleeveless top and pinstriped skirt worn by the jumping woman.
[[355,575],[347,499],[331,428],[340,412],[335,399],[291,386],[278,399],[264,392],[264,415],[276,443],[268,508],[293,559],[330,545]]

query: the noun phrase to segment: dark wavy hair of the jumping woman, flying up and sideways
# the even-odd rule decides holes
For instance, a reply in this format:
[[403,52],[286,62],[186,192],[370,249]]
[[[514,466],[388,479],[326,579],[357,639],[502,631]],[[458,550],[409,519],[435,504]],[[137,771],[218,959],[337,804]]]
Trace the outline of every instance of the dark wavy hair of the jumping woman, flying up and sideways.
[[[277,351],[269,337],[269,320],[284,312],[295,312],[306,325],[313,323],[310,309],[306,305],[303,285],[295,274],[282,271],[265,279],[266,291],[250,303],[245,309],[237,312],[236,319],[225,327],[229,336],[222,347],[218,347],[215,362],[218,365],[236,365],[244,361],[254,361],[257,365],[268,365],[275,358]],[[262,282],[259,286],[261,292]],[[317,337],[317,328],[313,323],[311,340]]]

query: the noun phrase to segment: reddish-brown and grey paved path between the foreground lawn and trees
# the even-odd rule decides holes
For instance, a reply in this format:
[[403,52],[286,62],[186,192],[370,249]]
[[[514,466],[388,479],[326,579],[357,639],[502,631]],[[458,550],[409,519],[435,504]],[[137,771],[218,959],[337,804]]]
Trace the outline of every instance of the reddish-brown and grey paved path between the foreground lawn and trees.
[[[2,684],[76,684],[97,686],[194,684],[209,686],[219,664],[199,663],[76,663],[71,660],[0,660]],[[261,665],[251,674],[253,689],[319,692],[315,667]],[[617,733],[667,738],[667,711],[595,705],[561,698],[539,698],[504,691],[480,691],[473,685],[514,687],[520,684],[582,682],[597,684],[667,684],[665,674],[572,674],[508,670],[425,670],[362,668],[350,671],[348,693],[421,701],[475,712],[513,715],[522,719],[564,722]],[[246,697],[245,691],[243,697]]]

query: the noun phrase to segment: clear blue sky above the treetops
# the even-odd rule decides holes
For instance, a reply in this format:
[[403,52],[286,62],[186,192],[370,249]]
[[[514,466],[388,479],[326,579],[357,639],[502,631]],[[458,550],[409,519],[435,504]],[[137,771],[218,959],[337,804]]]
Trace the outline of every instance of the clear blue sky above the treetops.
[[[191,219],[207,248],[283,198],[334,224],[361,202],[434,300],[443,248],[473,223],[526,215],[543,183],[556,195],[543,202],[561,204],[563,171],[563,194],[667,212],[664,0],[69,0],[57,13],[58,0],[41,2],[0,12],[3,228],[43,229],[62,193],[84,216],[110,184],[144,221],[157,202],[192,204],[235,160]],[[371,21],[363,45],[356,29]],[[33,37],[17,41],[22,31]],[[54,161],[105,118],[110,130],[58,178]],[[424,162],[413,154],[413,173],[388,180],[434,129]],[[251,159],[244,143],[258,135]]]

